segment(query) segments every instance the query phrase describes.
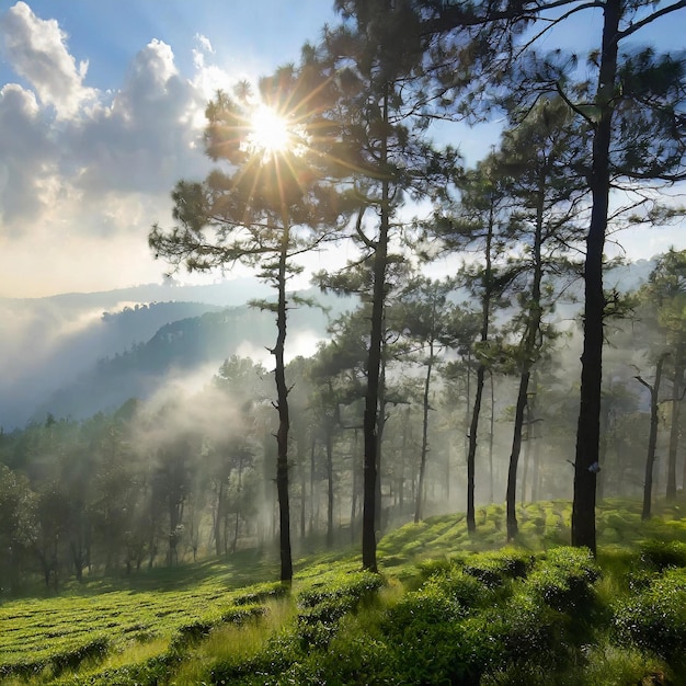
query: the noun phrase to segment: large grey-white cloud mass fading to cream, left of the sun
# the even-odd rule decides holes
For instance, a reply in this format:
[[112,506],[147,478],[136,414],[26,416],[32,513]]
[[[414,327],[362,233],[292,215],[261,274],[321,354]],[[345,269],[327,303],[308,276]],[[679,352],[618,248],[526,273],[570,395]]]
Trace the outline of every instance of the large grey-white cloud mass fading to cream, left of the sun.
[[[41,296],[159,281],[147,235],[171,221],[170,191],[202,178],[204,108],[236,77],[196,35],[193,73],[151,38],[124,81],[88,84],[69,36],[26,2],[0,14],[0,296]],[[96,286],[95,286],[96,284]]]

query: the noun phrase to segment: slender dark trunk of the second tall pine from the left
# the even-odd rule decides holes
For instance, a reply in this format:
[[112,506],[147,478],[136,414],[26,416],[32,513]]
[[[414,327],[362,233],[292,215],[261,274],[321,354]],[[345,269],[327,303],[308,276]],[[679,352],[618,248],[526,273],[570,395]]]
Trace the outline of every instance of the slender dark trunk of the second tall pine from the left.
[[[388,92],[384,95],[384,123],[388,125]],[[388,159],[387,138],[381,138],[381,165]],[[381,184],[381,208],[379,239],[374,251],[374,295],[371,301],[371,331],[369,336],[369,354],[367,359],[367,391],[365,395],[365,458],[364,458],[364,505],[362,522],[362,565],[376,572],[376,502],[377,488],[377,413],[379,401],[379,377],[381,369],[381,345],[384,338],[384,305],[386,300],[386,263],[388,259],[389,233],[389,182]]]

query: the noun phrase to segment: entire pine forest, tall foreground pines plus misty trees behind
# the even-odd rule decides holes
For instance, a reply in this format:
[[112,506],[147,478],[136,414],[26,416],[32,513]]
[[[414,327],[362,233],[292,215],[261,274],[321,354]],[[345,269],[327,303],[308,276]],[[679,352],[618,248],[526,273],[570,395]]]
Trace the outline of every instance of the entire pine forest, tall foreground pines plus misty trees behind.
[[[217,92],[216,169],[179,181],[174,226],[149,233],[172,270],[256,270],[273,367],[231,356],[199,392],[3,433],[3,587],[274,540],[289,582],[291,536],[311,534],[362,538],[375,572],[392,524],[464,507],[473,531],[477,503],[503,499],[507,539],[518,502],[571,499],[571,542],[595,553],[598,498],[638,495],[645,518],[677,498],[686,254],[629,295],[604,275],[622,228],[683,216],[686,64],[636,41],[685,3],[335,7],[299,64]],[[595,10],[587,59],[549,49]],[[494,115],[471,168],[434,139]],[[359,306],[287,362],[293,310],[313,305],[288,284],[324,248],[348,261],[313,283]]]

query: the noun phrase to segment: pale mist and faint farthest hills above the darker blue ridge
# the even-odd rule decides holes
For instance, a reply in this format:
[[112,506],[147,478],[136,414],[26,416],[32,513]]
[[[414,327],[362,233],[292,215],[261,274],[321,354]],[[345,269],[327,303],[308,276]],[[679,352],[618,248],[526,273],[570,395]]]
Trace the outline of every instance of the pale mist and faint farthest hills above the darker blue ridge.
[[25,424],[36,408],[98,361],[149,341],[163,325],[266,297],[253,278],[203,286],[148,284],[47,298],[0,298],[0,426]]

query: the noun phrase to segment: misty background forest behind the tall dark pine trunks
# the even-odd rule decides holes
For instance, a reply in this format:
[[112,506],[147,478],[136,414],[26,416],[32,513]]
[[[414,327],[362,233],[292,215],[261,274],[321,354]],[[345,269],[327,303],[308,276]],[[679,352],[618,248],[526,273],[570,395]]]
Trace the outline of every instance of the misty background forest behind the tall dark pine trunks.
[[[545,309],[546,343],[531,365],[523,412],[530,343],[522,321],[530,320],[530,302],[522,284],[507,279],[483,341],[481,302],[471,289],[485,261],[480,270],[476,264],[455,279],[403,276],[386,307],[377,535],[465,510],[468,485],[475,506],[506,500],[515,522],[519,503],[572,495],[578,381],[567,361],[578,358],[582,330],[578,318],[565,324],[565,317],[578,305],[559,304],[564,316]],[[510,259],[504,264],[514,268]],[[517,272],[535,279],[529,270]],[[567,289],[557,275],[545,283],[551,301]],[[679,449],[686,251],[659,256],[647,283],[617,300],[621,312],[607,331],[597,477],[602,498],[642,496],[650,516],[653,498],[674,500],[686,485]],[[331,321],[316,355],[285,365],[296,550],[355,545],[364,526],[369,313],[361,301]],[[48,415],[0,434],[2,592],[36,576],[58,587],[83,575],[275,548],[273,386],[273,370],[232,356],[195,393],[170,388],[89,420]],[[521,459],[513,459],[514,443]],[[508,523],[503,542],[514,537]]]

